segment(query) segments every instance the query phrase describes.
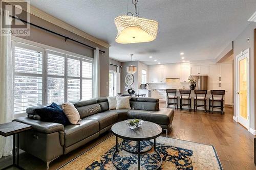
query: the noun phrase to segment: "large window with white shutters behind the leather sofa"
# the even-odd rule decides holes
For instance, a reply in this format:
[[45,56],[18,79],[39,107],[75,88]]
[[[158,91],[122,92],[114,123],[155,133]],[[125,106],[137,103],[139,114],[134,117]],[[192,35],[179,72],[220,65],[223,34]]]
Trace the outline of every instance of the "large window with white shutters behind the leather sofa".
[[13,42],[14,114],[31,106],[92,98],[93,61],[40,46]]

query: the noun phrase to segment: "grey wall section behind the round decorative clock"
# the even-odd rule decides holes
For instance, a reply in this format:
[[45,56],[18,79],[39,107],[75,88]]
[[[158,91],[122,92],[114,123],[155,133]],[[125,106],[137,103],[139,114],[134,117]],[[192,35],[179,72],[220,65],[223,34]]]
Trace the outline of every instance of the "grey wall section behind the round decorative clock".
[[[126,72],[126,67],[129,66],[129,65],[134,65],[137,67],[138,69],[138,64],[139,62],[138,61],[129,61],[129,62],[122,62],[122,73],[121,73],[121,93],[127,93],[127,91],[125,91],[125,86],[127,86],[124,82],[124,78],[125,76],[127,75],[127,72]],[[137,92],[138,91],[138,71],[133,75],[134,77],[134,82],[133,84],[131,85],[131,87],[134,88],[134,91]]]

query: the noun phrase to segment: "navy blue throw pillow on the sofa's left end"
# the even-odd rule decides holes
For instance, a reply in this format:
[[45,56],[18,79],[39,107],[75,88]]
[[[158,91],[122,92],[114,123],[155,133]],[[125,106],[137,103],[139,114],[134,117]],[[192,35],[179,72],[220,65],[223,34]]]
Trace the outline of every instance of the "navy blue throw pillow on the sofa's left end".
[[64,126],[69,124],[69,119],[63,112],[63,110],[56,104],[52,103],[49,106],[35,109],[36,114],[41,117],[43,122],[52,122],[62,124]]

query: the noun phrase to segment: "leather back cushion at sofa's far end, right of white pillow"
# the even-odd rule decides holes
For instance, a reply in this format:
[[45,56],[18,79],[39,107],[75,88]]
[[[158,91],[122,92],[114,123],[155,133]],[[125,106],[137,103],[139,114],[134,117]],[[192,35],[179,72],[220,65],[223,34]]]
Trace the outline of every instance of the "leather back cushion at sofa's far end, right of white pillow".
[[158,102],[134,102],[130,101],[130,105],[132,109],[137,110],[149,110],[149,111],[157,111],[159,110],[159,103]]

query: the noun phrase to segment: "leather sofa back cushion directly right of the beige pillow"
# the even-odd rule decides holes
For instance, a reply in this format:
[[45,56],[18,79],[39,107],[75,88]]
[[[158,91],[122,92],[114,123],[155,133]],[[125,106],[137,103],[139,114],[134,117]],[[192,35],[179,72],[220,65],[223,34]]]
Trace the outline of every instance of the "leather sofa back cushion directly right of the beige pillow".
[[84,118],[87,116],[90,116],[92,114],[96,114],[101,112],[101,107],[98,103],[92,104],[92,105],[85,105],[85,106],[80,106],[76,107],[80,114],[80,118]]

